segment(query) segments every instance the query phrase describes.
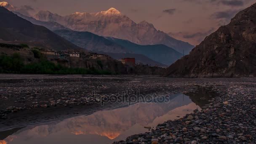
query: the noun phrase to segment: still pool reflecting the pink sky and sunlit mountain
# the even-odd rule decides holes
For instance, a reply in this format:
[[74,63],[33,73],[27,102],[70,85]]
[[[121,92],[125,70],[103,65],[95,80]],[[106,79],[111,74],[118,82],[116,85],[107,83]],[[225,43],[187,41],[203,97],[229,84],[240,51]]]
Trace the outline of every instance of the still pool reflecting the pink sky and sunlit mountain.
[[[177,116],[183,117],[194,109],[200,109],[198,104],[202,106],[207,103],[208,96],[204,95],[207,97],[205,100],[198,100],[200,97],[202,96],[177,94],[172,96],[169,103],[138,103],[58,122],[28,126],[0,140],[0,144],[109,144],[148,131],[144,126],[155,127],[166,120],[174,120]],[[198,101],[200,103],[197,104]]]

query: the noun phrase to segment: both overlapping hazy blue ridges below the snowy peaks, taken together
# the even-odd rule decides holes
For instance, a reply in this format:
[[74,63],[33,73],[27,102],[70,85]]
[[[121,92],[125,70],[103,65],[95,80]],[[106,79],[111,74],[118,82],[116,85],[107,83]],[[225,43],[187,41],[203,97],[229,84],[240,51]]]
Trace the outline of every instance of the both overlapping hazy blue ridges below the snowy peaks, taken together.
[[181,53],[166,45],[138,45],[128,40],[101,37],[91,32],[72,30],[55,30],[54,32],[81,48],[108,54],[114,59],[134,57],[138,63],[164,66],[182,57]]

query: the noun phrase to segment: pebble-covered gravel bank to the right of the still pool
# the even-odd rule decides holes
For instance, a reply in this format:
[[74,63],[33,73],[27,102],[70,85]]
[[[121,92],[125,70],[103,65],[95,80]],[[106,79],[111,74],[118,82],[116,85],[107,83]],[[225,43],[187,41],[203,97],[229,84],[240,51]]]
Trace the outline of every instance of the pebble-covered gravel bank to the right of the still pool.
[[[188,85],[211,87],[220,93],[199,112],[167,120],[148,133],[115,144],[255,144],[256,79],[192,79]],[[186,89],[186,88],[185,88]]]

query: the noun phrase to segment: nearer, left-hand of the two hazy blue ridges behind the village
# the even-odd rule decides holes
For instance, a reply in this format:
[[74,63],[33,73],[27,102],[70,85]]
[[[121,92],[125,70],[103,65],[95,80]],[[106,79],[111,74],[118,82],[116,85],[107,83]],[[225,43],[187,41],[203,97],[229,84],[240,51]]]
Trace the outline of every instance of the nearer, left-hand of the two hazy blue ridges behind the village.
[[150,64],[152,66],[159,65],[165,66],[160,62],[153,61],[147,56],[141,54],[134,54],[133,51],[119,45],[111,40],[107,40],[105,37],[95,35],[91,32],[75,32],[72,30],[55,30],[56,34],[64,37],[75,45],[85,48],[88,51],[97,53],[104,53],[111,56],[114,59],[122,59],[125,57],[133,57],[137,63]]

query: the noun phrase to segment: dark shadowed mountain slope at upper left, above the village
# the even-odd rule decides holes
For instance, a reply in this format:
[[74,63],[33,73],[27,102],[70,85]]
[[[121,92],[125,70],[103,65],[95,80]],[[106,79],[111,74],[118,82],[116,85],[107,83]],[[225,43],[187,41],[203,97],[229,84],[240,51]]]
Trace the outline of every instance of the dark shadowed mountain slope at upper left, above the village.
[[0,6],[0,39],[6,41],[38,41],[47,44],[47,48],[65,50],[78,48],[49,29],[32,24]]

